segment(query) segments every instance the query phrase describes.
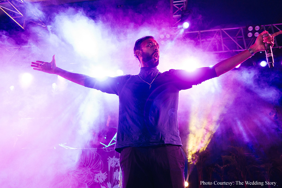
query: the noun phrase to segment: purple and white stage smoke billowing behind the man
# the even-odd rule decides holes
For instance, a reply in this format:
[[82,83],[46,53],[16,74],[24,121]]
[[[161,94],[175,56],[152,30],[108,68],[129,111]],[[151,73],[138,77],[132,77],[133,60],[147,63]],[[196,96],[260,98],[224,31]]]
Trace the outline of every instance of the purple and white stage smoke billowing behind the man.
[[[154,2],[150,7],[128,3],[123,8],[107,1],[99,3],[56,6],[58,10],[28,4],[29,18],[40,18],[48,23],[47,27],[30,25],[18,35],[1,31],[3,187],[28,187],[34,177],[34,186],[50,181],[57,170],[63,174],[75,166],[81,153],[56,150],[66,146],[103,147],[99,142],[108,141],[104,139],[106,134],[111,140],[115,131],[109,131],[109,127],[116,130],[117,126],[118,96],[32,70],[30,62],[50,62],[56,54],[57,66],[72,72],[94,77],[98,73],[117,76],[116,70],[138,74],[133,46],[145,35],[159,41],[158,69],[162,72],[211,66],[220,59],[203,52],[192,39],[182,38],[181,30],[171,29],[166,1]],[[200,23],[202,17],[197,18]],[[222,127],[231,127],[234,136],[244,138],[243,142],[261,144],[258,136],[262,133],[264,145],[279,140],[276,128],[281,118],[278,115],[273,119],[269,113],[277,117],[274,108],[279,105],[281,91],[259,82],[261,79],[258,70],[242,68],[181,91],[179,128],[184,150],[191,156],[205,149],[216,131],[223,131]],[[271,137],[273,141],[269,141]]]

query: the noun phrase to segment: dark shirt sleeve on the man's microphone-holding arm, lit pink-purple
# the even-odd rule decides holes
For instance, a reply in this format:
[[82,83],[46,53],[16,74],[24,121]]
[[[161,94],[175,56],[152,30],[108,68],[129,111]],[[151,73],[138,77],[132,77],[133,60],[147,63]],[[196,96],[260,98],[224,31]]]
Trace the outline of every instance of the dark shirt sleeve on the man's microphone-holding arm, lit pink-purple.
[[[181,90],[191,88],[193,85],[198,85],[206,80],[217,77],[214,67],[201,67],[193,72],[187,72],[186,70],[169,70],[175,75],[176,79],[182,84]],[[182,87],[181,87],[182,86]],[[187,87],[190,86],[190,87]]]

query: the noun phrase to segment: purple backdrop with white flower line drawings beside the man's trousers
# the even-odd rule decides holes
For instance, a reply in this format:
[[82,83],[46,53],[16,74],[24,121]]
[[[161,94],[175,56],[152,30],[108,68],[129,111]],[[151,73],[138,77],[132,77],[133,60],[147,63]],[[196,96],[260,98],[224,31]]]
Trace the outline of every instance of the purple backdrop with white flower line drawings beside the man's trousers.
[[83,149],[76,166],[54,179],[54,188],[118,188],[119,153],[114,148]]

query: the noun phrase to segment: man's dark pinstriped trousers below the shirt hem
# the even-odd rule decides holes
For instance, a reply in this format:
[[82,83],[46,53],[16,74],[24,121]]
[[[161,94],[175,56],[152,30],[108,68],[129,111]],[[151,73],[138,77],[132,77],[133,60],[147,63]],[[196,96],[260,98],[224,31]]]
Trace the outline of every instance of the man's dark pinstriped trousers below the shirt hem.
[[179,146],[127,147],[120,153],[123,188],[184,188]]

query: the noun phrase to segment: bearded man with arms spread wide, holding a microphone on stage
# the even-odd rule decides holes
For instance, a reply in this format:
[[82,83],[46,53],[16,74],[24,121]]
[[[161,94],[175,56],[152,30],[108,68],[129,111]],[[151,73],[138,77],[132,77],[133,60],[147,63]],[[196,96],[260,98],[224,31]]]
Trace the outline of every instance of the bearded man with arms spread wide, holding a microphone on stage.
[[189,89],[232,70],[258,51],[264,42],[274,45],[274,36],[262,38],[247,50],[193,73],[169,70],[160,73],[159,44],[146,36],[135,42],[134,54],[141,67],[138,75],[125,75],[98,81],[71,73],[52,61],[32,62],[34,70],[58,74],[80,85],[119,96],[119,123],[115,150],[120,153],[123,187],[184,187],[184,156],[180,150],[177,108],[179,90]]

